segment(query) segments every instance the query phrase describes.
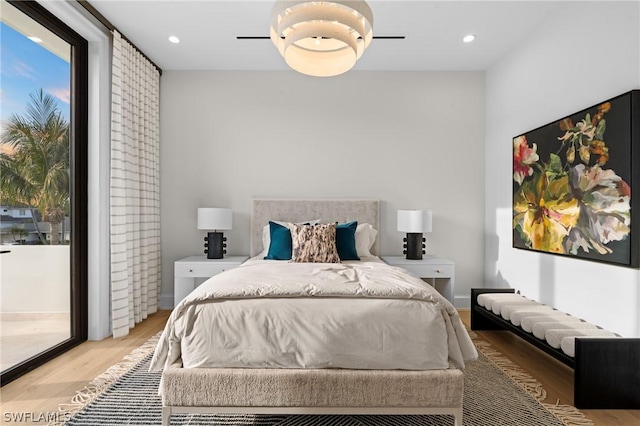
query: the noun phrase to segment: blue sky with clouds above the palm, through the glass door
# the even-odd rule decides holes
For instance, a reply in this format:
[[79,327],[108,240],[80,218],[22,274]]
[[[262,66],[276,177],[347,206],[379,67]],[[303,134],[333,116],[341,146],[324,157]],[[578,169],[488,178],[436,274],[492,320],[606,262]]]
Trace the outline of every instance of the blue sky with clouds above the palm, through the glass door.
[[13,114],[25,114],[29,94],[40,88],[58,100],[69,120],[69,63],[0,22],[1,130]]

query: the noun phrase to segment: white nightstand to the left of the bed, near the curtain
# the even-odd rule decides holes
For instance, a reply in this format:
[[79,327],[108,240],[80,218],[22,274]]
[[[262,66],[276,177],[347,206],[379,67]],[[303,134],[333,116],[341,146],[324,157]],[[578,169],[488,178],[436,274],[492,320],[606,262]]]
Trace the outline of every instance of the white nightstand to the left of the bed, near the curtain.
[[227,256],[222,259],[207,259],[207,256],[189,256],[176,260],[173,264],[173,306],[207,278],[237,268],[248,258],[249,256]]

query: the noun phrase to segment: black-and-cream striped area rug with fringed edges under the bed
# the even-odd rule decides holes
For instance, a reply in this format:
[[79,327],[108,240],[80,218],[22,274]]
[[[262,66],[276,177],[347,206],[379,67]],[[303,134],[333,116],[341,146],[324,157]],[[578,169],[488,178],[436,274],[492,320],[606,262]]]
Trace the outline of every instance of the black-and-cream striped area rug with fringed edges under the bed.
[[[479,358],[465,369],[464,426],[593,426],[576,408],[547,404],[535,379],[471,333]],[[64,425],[159,425],[160,373],[148,367],[158,336],[149,340],[60,406]],[[60,423],[51,423],[57,426]],[[175,414],[172,425],[212,426],[451,426],[445,415],[193,415]]]

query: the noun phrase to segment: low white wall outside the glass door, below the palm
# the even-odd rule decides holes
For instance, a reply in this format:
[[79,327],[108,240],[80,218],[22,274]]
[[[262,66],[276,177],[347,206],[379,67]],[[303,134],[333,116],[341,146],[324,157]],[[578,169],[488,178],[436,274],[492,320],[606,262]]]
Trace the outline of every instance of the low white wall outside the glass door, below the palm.
[[69,312],[69,246],[0,245],[0,312]]

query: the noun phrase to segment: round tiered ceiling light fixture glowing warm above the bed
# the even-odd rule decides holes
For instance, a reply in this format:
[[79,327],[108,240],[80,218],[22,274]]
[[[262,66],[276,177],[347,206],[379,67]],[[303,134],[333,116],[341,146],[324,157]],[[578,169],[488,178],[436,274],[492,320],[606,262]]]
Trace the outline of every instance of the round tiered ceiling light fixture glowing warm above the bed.
[[294,70],[314,77],[349,71],[373,38],[373,14],[364,0],[277,0],[271,40]]

